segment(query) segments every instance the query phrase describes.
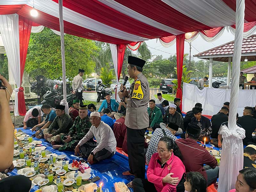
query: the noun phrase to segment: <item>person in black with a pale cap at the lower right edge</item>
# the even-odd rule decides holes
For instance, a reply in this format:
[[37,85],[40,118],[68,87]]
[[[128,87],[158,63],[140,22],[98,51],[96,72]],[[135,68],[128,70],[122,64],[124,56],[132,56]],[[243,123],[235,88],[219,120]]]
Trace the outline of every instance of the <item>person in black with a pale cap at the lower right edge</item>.
[[244,148],[244,168],[256,168],[256,145],[247,145]]

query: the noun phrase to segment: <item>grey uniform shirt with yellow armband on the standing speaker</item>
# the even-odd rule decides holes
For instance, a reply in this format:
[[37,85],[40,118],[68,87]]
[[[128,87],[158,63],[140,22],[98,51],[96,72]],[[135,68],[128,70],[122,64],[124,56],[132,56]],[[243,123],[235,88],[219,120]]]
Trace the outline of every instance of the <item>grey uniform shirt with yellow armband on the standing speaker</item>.
[[130,86],[126,106],[124,124],[131,129],[144,129],[148,127],[149,85],[147,78],[140,73]]

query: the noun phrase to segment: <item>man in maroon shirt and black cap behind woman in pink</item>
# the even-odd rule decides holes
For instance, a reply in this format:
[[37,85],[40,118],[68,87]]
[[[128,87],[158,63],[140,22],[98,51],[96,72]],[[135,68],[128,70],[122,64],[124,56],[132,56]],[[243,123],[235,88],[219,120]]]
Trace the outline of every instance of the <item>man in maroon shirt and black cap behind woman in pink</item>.
[[[217,160],[196,141],[200,137],[200,127],[189,123],[185,134],[186,139],[175,140],[182,155],[186,173],[199,172],[204,175],[207,185],[211,185],[219,177]],[[204,164],[206,164],[204,166]]]

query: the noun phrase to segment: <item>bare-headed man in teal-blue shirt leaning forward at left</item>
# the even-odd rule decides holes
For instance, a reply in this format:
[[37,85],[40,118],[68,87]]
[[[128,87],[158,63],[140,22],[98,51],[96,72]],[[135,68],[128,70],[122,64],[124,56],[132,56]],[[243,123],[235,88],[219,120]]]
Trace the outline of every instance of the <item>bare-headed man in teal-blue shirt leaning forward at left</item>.
[[42,111],[44,112],[44,114],[47,114],[44,121],[32,128],[32,132],[36,131],[35,136],[37,139],[44,138],[44,129],[48,128],[56,117],[55,110],[53,110],[48,103],[45,103],[42,106]]

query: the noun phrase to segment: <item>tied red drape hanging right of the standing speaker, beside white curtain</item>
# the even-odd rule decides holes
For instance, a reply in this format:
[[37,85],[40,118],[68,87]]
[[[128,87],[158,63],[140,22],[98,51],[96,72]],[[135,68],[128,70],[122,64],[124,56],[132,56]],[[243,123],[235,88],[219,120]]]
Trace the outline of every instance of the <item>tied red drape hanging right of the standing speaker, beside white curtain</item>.
[[182,78],[182,66],[184,57],[184,41],[185,34],[180,34],[176,36],[176,51],[177,51],[177,79],[178,88],[176,97],[181,99],[180,109],[182,110],[182,89],[181,89],[181,78]]

